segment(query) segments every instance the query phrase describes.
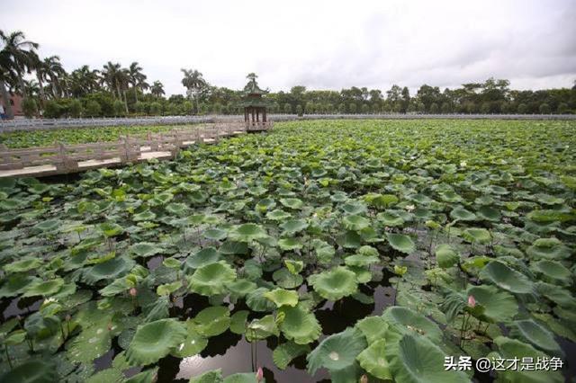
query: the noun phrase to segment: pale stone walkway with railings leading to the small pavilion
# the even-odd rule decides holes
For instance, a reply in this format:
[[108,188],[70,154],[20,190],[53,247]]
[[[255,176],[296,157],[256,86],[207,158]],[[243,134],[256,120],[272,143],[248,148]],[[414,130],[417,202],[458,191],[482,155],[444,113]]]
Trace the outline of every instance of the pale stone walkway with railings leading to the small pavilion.
[[152,158],[174,158],[184,147],[211,144],[220,138],[251,131],[272,129],[273,122],[214,123],[205,127],[183,127],[166,133],[148,133],[146,138],[124,137],[114,142],[81,145],[8,149],[0,147],[1,177],[41,177],[84,172],[98,167],[119,166],[148,161]]

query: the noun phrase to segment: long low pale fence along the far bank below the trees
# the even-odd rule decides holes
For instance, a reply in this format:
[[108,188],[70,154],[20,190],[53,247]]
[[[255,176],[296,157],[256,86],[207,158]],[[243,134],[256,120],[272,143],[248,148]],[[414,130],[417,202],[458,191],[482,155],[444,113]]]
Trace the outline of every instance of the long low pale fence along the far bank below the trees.
[[[270,120],[576,120],[576,114],[272,114]],[[0,121],[0,132],[136,125],[182,125],[242,120],[239,115],[162,116],[98,119],[18,119]]]

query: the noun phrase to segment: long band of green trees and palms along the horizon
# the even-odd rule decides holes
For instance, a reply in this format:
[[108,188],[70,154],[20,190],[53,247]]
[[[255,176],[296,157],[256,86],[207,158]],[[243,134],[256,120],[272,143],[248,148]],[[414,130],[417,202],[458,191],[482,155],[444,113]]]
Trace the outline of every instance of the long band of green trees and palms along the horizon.
[[[138,62],[129,67],[108,61],[101,69],[87,65],[67,72],[58,56],[40,58],[39,44],[22,31],[0,31],[0,94],[9,118],[14,111],[9,94],[23,97],[28,117],[100,117],[126,115],[238,114],[242,91],[209,84],[195,69],[182,69],[183,94],[166,97],[160,81],[148,82]],[[379,89],[352,86],[341,91],[271,92],[272,113],[575,113],[576,81],[572,88],[519,91],[506,79],[489,78],[441,90],[422,85]]]

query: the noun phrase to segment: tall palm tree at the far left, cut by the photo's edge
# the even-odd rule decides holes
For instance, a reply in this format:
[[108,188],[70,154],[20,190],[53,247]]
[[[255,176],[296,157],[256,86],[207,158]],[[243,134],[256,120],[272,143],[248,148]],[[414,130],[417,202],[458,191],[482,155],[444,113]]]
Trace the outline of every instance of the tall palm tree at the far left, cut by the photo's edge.
[[[14,118],[14,111],[10,105],[10,96],[6,90],[6,84],[20,89],[24,97],[24,72],[31,73],[34,67],[34,49],[38,49],[38,43],[26,40],[22,31],[14,31],[5,34],[0,31],[0,92],[6,103],[6,114],[8,118]],[[14,84],[17,79],[17,84]]]

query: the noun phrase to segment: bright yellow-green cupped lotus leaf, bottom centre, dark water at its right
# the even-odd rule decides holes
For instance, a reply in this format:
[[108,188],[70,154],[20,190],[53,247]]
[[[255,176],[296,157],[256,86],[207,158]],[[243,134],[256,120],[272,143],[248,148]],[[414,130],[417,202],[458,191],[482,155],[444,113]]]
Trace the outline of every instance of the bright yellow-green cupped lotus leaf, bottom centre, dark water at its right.
[[308,344],[317,340],[322,334],[322,327],[316,316],[302,307],[284,306],[279,312],[284,313],[284,321],[280,324],[280,330],[286,339],[297,344]]

